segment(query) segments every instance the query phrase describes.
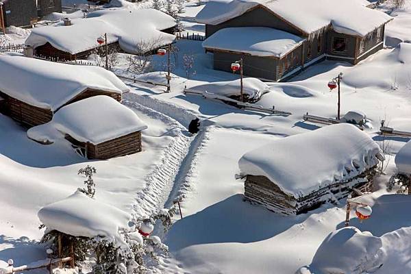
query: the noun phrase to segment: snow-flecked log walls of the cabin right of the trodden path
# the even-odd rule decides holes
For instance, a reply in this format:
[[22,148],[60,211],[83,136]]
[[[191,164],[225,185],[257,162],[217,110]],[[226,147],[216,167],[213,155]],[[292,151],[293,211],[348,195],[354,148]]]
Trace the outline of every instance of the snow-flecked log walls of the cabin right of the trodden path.
[[361,191],[372,191],[375,173],[375,167],[373,167],[349,181],[336,182],[297,199],[284,193],[265,176],[247,175],[245,199],[280,214],[306,213],[309,210],[319,208],[323,203],[347,198],[353,188],[358,188]]

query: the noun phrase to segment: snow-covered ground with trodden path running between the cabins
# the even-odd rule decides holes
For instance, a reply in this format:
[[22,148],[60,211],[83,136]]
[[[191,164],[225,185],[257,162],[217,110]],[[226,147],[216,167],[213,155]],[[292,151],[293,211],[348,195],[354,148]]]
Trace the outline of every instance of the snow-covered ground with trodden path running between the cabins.
[[[180,14],[190,33],[204,31],[203,25],[192,21],[201,8],[187,3],[186,12]],[[390,10],[389,1],[382,8]],[[411,47],[393,42],[411,40],[410,12],[407,0],[401,10],[390,13],[395,20],[387,25],[386,36],[395,48],[383,49],[356,66],[325,61],[290,82],[266,83],[271,91],[256,104],[292,112],[290,116],[240,110],[199,95],[184,95],[185,86],[238,79],[237,74],[214,71],[212,55],[204,53],[201,41],[193,40],[177,41],[178,66],[173,69],[171,93],[164,93],[160,86],[125,81],[131,92],[123,103],[148,125],[141,153],[107,161],[84,160],[65,140],[40,145],[27,138],[25,129],[0,115],[0,262],[13,258],[20,265],[45,258],[44,249],[37,245],[42,236],[37,212],[82,187],[84,178],[77,171],[90,164],[97,168],[97,201],[128,213],[153,212],[184,195],[184,219],[177,217],[163,236],[171,251],[160,262],[164,273],[289,274],[310,265],[323,240],[344,226],[344,202],[298,216],[279,216],[243,201],[243,182],[235,175],[240,172],[238,160],[248,151],[323,126],[303,121],[306,112],[335,118],[338,95],[329,92],[327,83],[343,72],[342,114],[364,112],[373,125],[364,132],[385,147],[385,153],[393,154],[386,155],[388,167],[386,175],[377,177],[377,192],[366,197],[373,206],[371,219],[360,223],[353,218],[351,225],[382,238],[387,255],[376,273],[408,273],[410,232],[401,227],[411,226],[404,217],[411,200],[388,195],[385,188],[395,173],[393,156],[408,138],[382,138],[377,131],[382,120],[396,129],[410,130]],[[191,71],[184,69],[185,54],[194,57]],[[126,74],[127,55],[121,56],[115,72]],[[155,56],[153,64],[153,72],[138,78],[165,82],[166,58]],[[195,116],[201,119],[201,132],[190,136],[186,127]]]

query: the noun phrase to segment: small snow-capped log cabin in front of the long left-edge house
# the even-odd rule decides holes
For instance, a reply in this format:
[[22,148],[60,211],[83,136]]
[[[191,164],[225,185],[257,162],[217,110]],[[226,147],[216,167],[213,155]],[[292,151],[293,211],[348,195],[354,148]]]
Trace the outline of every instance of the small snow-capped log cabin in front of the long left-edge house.
[[47,133],[58,132],[84,157],[106,160],[142,151],[144,129],[147,125],[134,111],[99,95],[64,106],[49,123],[29,129],[27,136],[49,145],[54,140]]

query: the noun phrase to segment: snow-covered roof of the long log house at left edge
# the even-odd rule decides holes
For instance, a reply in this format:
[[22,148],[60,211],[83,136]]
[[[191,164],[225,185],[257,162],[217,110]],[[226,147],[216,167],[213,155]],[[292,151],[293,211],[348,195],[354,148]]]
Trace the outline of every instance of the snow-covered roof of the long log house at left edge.
[[0,91],[51,111],[87,88],[116,92],[129,90],[110,71],[98,66],[74,66],[23,56],[0,55]]

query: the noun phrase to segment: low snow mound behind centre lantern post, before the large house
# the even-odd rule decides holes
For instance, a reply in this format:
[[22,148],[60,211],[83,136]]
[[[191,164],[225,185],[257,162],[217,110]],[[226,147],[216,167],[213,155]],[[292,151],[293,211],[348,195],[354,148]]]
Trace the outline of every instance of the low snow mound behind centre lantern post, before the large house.
[[[258,101],[262,95],[270,92],[270,87],[256,78],[244,78],[242,80],[242,85],[242,91],[244,94],[248,95],[251,100]],[[193,86],[192,89],[225,97],[240,96],[240,79],[202,84]]]

